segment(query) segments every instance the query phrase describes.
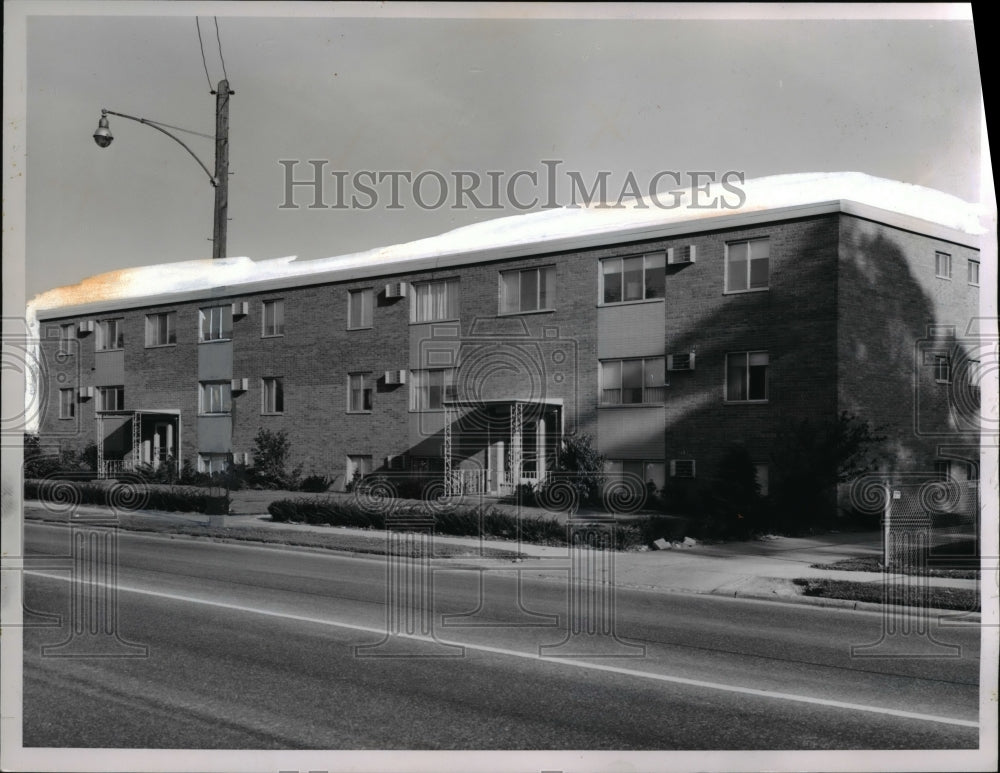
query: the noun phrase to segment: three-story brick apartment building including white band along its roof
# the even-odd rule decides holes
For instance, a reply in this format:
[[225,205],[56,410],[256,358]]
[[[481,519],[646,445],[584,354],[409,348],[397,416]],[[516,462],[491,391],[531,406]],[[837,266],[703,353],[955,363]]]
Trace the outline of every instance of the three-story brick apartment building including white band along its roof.
[[105,476],[219,470],[269,428],[337,487],[423,469],[487,493],[543,478],[572,433],[657,487],[740,443],[766,492],[780,422],[847,411],[885,428],[891,469],[977,475],[971,209],[806,181],[748,181],[738,209],[521,215],[471,246],[478,226],[267,278],[205,262],[220,279],[193,289],[40,309],[43,361],[68,364],[45,371],[39,430],[96,441]]

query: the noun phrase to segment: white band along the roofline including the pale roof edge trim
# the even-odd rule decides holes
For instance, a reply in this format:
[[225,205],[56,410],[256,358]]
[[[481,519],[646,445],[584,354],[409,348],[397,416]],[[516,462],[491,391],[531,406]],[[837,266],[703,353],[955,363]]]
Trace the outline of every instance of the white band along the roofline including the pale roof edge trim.
[[[488,220],[439,236],[319,260],[223,258],[142,266],[56,288],[28,304],[28,316],[57,319],[165,303],[234,298],[248,293],[393,276],[530,257],[623,242],[680,238],[768,222],[844,213],[931,238],[979,249],[985,233],[977,206],[941,191],[858,172],[777,175],[709,186],[701,201],[719,197],[735,208],[679,206],[651,199],[631,206],[543,210]],[[673,195],[673,194],[671,194]],[[657,201],[667,199],[660,193]],[[738,201],[738,199],[737,199]]]

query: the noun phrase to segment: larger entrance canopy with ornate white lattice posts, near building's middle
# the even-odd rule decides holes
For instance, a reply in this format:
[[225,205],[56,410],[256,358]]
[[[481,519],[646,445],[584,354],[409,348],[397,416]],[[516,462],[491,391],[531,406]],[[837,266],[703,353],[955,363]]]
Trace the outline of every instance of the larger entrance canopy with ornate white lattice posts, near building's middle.
[[445,496],[509,496],[537,485],[562,434],[562,400],[445,401]]

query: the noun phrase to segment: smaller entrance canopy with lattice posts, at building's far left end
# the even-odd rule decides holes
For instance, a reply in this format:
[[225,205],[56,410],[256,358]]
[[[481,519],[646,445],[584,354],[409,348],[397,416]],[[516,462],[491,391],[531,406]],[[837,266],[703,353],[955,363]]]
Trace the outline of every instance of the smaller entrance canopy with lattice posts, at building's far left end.
[[98,411],[96,419],[98,478],[134,472],[141,465],[180,471],[179,410]]

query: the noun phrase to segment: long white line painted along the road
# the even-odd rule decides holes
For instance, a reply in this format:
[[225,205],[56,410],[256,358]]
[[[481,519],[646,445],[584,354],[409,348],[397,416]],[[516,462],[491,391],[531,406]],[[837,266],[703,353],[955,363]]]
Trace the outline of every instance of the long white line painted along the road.
[[[71,582],[71,577],[65,575],[48,574],[47,572],[24,570],[25,574],[32,574],[38,577],[47,577],[52,580]],[[169,599],[171,601],[186,601],[191,604],[203,604],[209,607],[228,609],[234,612],[246,612],[264,617],[277,617],[285,620],[295,620],[302,623],[316,623],[317,625],[328,625],[334,628],[346,628],[352,631],[364,631],[385,636],[385,628],[375,628],[367,625],[356,625],[354,623],[344,623],[337,620],[327,620],[319,617],[308,617],[306,615],[295,615],[289,612],[275,612],[268,609],[258,609],[256,607],[246,607],[240,604],[227,604],[223,601],[209,601],[207,599],[181,596],[175,593],[164,593],[161,591],[147,590],[145,588],[134,588],[126,585],[118,585],[119,591],[136,593],[144,596],[154,596],[156,598]],[[722,692],[738,693],[740,695],[754,695],[760,698],[771,698],[774,700],[791,701],[795,703],[809,703],[815,706],[827,708],[846,709],[848,711],[865,711],[871,714],[883,714],[891,717],[901,717],[903,719],[916,719],[924,722],[938,722],[944,725],[958,725],[959,727],[978,728],[979,723],[967,719],[955,719],[953,717],[942,717],[934,714],[919,714],[913,711],[901,711],[899,709],[883,708],[881,706],[866,706],[861,703],[848,703],[845,701],[834,701],[826,698],[810,698],[806,695],[793,695],[792,693],[776,692],[773,690],[756,690],[752,687],[738,687],[736,685],[722,684],[720,682],[706,682],[701,679],[686,679],[682,676],[668,676],[666,674],[656,674],[651,671],[636,671],[631,668],[621,668],[619,666],[609,666],[601,663],[590,663],[583,660],[570,660],[567,658],[542,657],[537,653],[521,652],[518,650],[508,650],[503,647],[490,647],[485,644],[469,644],[455,641],[453,639],[440,639],[432,636],[421,636],[419,634],[396,634],[400,639],[410,639],[414,641],[426,642],[429,644],[449,644],[457,647],[466,647],[479,652],[490,652],[496,655],[507,655],[509,657],[522,658],[525,660],[535,660],[542,663],[558,663],[572,668],[580,668],[587,671],[606,671],[613,674],[633,676],[640,679],[649,679],[657,682],[669,682],[672,684],[683,684],[690,687],[701,687],[708,690],[719,690]]]

